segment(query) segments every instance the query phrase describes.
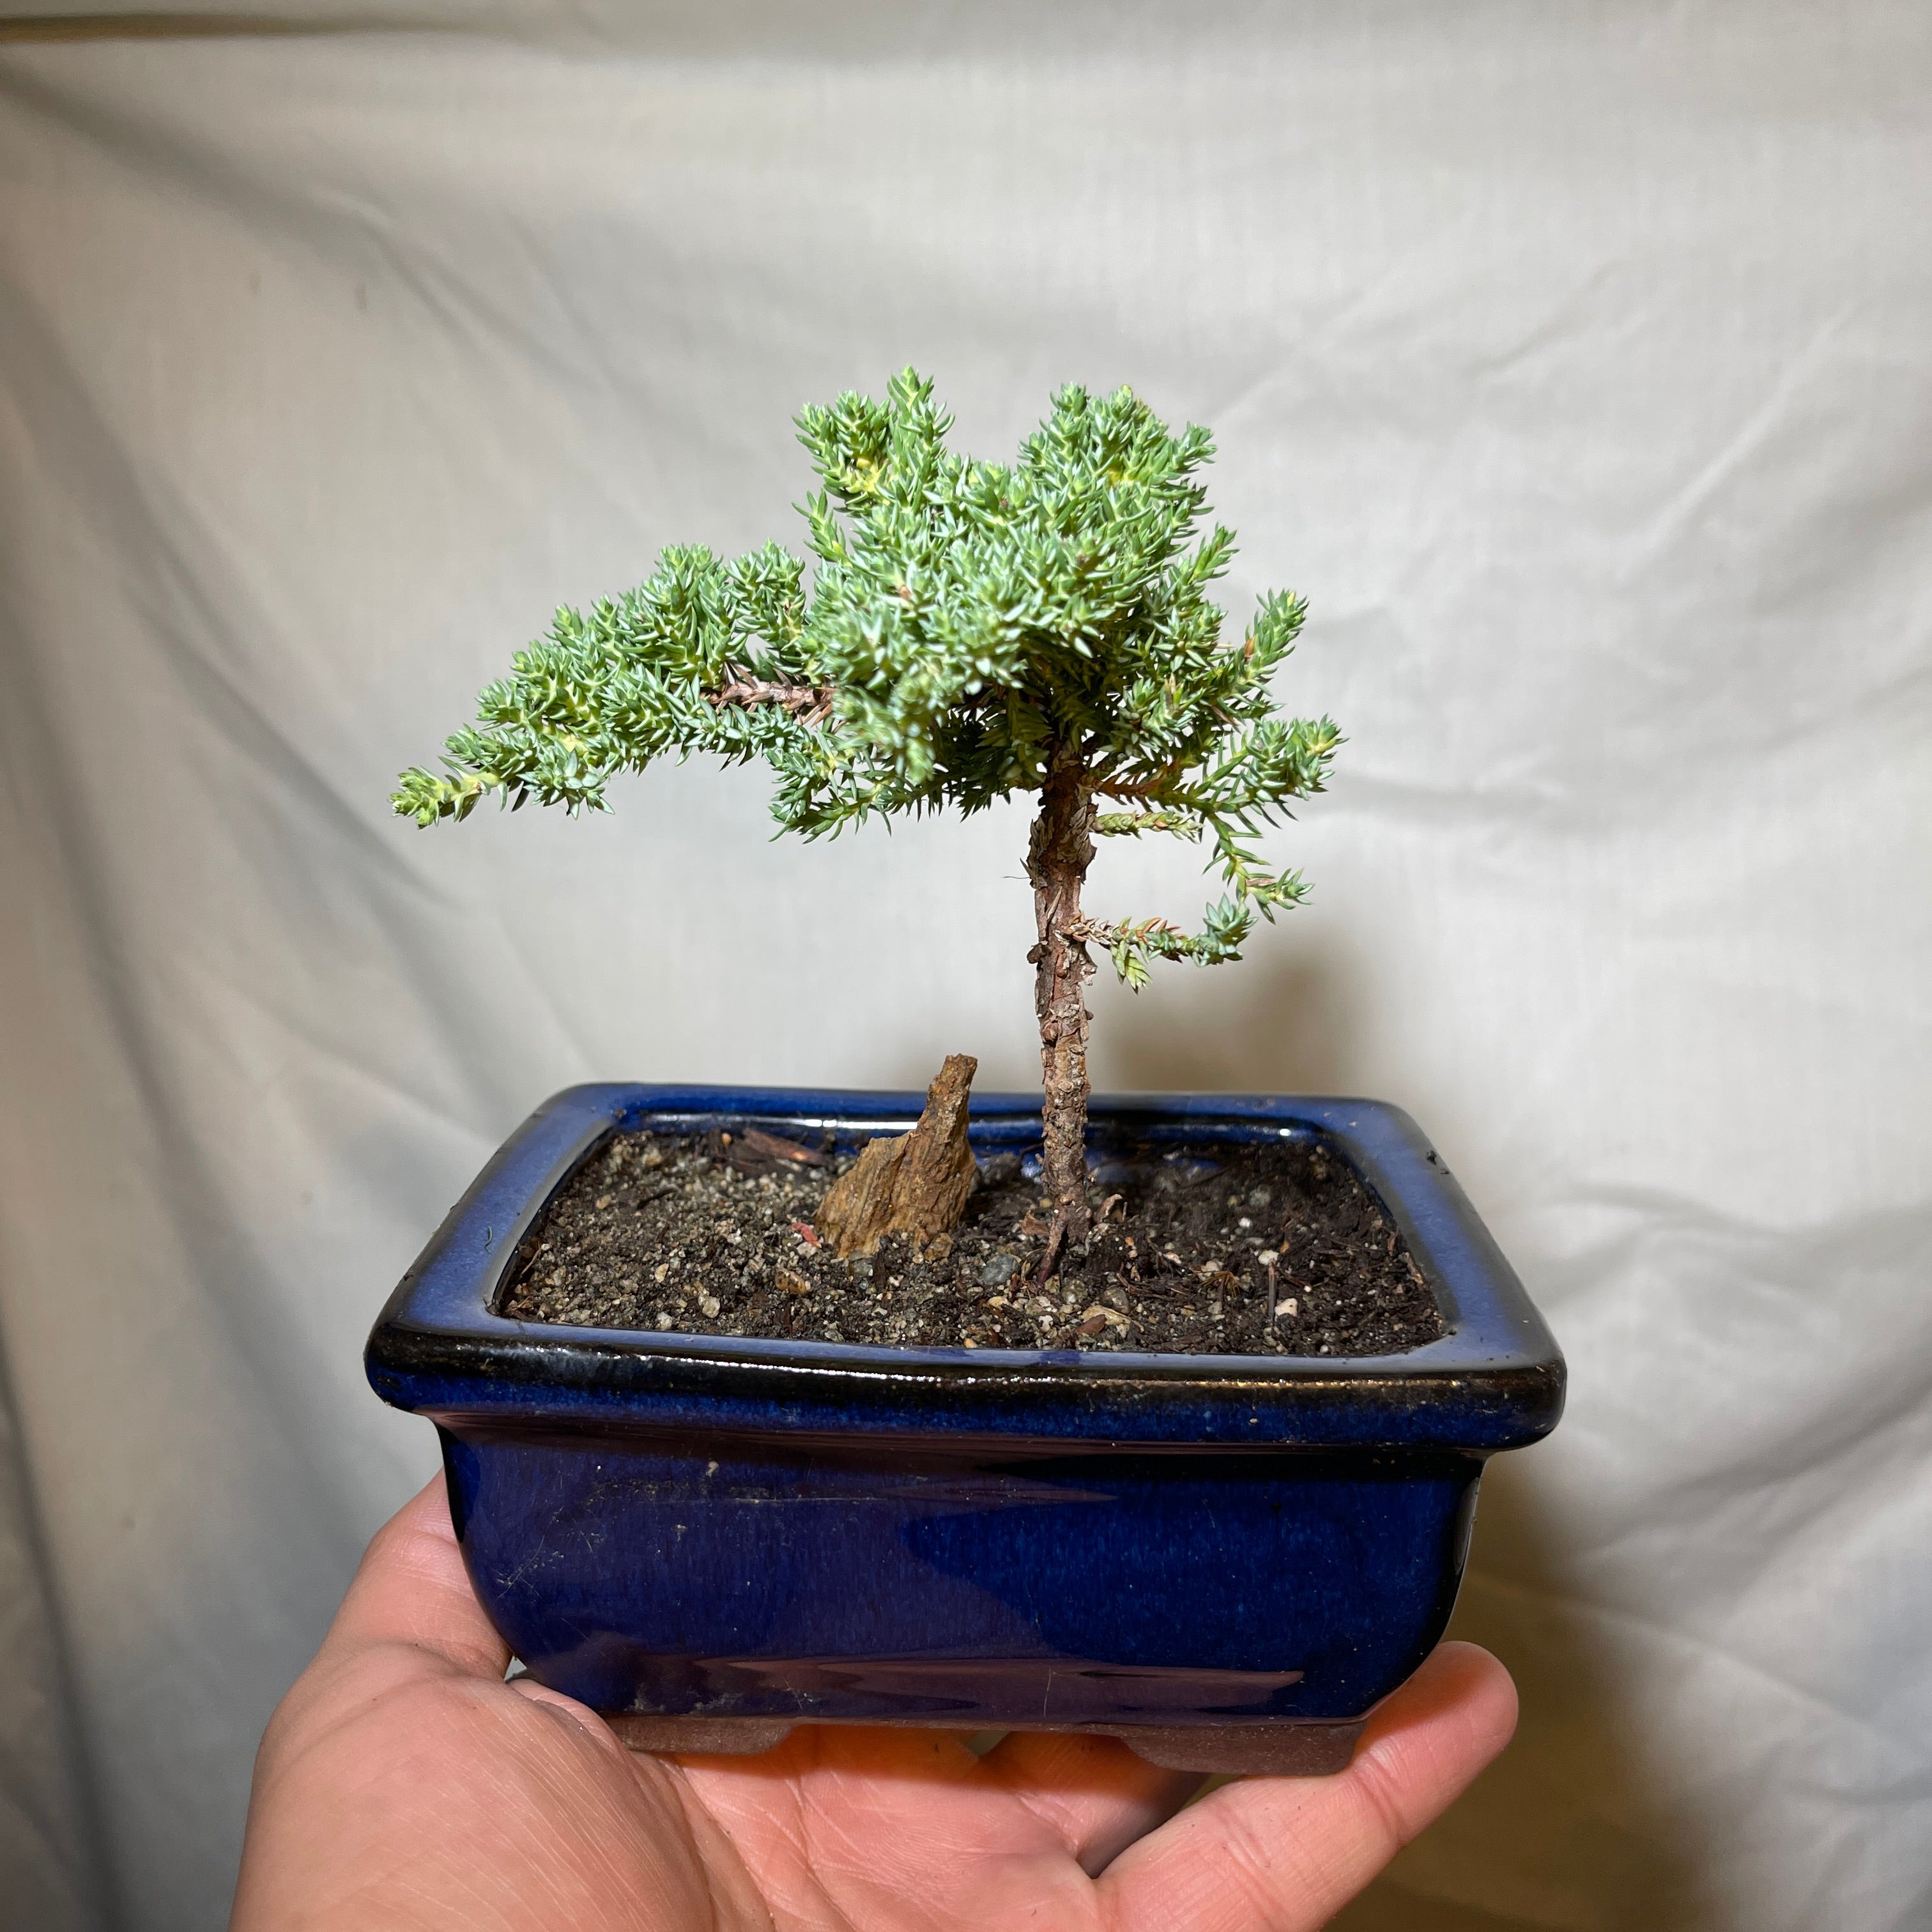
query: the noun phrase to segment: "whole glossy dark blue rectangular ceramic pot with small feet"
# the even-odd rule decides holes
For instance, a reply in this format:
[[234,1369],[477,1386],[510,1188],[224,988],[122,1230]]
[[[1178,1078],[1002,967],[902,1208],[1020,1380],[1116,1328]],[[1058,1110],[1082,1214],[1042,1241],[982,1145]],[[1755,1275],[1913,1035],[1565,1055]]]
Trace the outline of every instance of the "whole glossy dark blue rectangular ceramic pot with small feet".
[[[614,1130],[850,1148],[920,1099],[580,1086],[510,1136],[367,1352],[375,1391],[442,1435],[483,1607],[639,1748],[922,1723],[1107,1731],[1182,1770],[1339,1768],[1449,1621],[1484,1461],[1563,1406],[1549,1331],[1399,1109],[1097,1099],[1092,1148],[1327,1142],[1441,1308],[1441,1339],[1406,1354],[873,1349],[495,1312]],[[1037,1148],[1037,1097],[976,1097],[972,1136]]]

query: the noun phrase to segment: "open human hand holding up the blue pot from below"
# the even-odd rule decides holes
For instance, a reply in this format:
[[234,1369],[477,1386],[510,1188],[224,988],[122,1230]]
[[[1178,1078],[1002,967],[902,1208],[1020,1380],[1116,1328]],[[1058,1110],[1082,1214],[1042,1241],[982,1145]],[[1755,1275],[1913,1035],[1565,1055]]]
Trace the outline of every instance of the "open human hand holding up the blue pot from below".
[[269,1723],[230,1932],[1312,1932],[1517,1721],[1501,1663],[1443,1644],[1347,1772],[1180,1812],[1196,1776],[1103,1737],[974,1758],[806,1725],[759,1758],[634,1756],[508,1662],[439,1478]]

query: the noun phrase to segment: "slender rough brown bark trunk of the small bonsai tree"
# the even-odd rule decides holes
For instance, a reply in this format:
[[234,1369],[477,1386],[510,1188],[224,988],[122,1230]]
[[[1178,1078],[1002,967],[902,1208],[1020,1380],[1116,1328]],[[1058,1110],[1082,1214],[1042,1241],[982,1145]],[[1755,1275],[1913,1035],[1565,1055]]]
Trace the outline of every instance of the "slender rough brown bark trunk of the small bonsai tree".
[[1034,1007],[1039,1012],[1039,1068],[1045,1090],[1047,1202],[1053,1211],[1041,1279],[1053,1271],[1066,1242],[1084,1242],[1092,1219],[1086,1192],[1086,980],[1094,960],[1068,929],[1080,922],[1080,887],[1094,864],[1094,800],[1082,786],[1078,753],[1059,748],[1039,792],[1039,817],[1026,850],[1034,881],[1034,922],[1039,943],[1034,962]]

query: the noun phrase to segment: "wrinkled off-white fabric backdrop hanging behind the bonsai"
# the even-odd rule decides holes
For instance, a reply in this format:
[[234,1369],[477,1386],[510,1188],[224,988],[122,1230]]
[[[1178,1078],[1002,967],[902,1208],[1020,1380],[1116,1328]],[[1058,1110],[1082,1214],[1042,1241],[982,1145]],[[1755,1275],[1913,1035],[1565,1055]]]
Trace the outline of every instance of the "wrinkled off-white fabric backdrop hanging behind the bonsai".
[[1314,904],[1101,997],[1101,1082],[1401,1101],[1571,1356],[1459,1613],[1520,1739],[1341,1924],[1932,1924],[1932,14],[301,19],[0,25],[17,1922],[220,1920],[431,1468],[363,1333],[537,1099],[1032,1072],[1010,813],[384,813],[910,359],[987,452],[1074,377],[1209,423],[1350,734]]

